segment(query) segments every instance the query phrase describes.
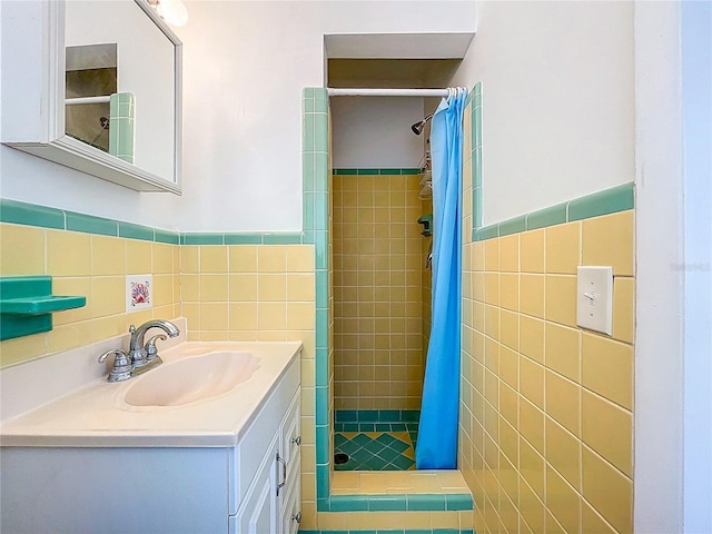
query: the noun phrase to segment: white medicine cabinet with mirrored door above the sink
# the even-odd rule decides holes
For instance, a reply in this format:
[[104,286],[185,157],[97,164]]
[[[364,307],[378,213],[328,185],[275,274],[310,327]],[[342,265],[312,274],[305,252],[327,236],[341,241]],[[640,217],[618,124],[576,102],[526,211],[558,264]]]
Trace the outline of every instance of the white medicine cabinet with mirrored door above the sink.
[[[2,142],[180,192],[181,43],[146,0],[3,2],[2,41]],[[4,53],[10,43],[23,52]]]

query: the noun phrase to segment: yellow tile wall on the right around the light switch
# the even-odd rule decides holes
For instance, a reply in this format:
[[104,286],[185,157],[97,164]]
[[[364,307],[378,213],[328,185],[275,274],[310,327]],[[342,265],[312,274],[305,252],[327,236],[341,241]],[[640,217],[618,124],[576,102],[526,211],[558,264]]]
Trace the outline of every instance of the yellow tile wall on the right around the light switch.
[[[614,268],[613,335],[576,326]],[[633,530],[633,211],[464,248],[459,466],[477,532]]]

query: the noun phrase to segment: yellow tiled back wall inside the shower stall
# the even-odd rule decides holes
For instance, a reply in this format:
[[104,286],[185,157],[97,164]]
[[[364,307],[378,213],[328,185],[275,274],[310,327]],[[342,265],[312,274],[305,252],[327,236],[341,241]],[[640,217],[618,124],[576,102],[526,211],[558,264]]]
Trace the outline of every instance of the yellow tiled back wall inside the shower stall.
[[333,177],[336,409],[421,407],[419,179]]

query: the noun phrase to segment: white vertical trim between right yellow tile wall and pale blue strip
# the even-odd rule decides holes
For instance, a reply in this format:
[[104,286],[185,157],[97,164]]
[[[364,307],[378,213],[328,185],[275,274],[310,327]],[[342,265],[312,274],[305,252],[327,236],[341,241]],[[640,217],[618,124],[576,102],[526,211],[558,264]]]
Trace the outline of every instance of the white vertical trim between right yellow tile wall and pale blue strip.
[[[680,3],[635,6],[634,530],[683,532]],[[709,357],[709,355],[708,355]]]

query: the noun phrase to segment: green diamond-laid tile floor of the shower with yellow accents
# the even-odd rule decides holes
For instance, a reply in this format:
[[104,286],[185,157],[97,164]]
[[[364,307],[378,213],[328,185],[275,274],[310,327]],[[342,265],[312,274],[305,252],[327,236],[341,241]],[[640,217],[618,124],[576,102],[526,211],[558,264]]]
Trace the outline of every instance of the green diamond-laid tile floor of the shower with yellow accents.
[[336,471],[411,471],[415,469],[417,424],[389,425],[394,429],[334,433],[334,456],[346,454],[348,461]]

